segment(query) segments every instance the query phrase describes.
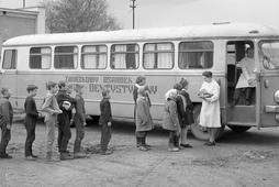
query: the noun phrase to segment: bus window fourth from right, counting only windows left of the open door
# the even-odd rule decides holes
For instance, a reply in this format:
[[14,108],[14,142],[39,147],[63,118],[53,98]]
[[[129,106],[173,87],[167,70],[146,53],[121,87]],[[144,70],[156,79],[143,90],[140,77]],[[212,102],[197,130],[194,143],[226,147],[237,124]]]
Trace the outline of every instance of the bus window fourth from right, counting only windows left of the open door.
[[114,44],[111,46],[112,69],[136,69],[138,67],[137,44]]

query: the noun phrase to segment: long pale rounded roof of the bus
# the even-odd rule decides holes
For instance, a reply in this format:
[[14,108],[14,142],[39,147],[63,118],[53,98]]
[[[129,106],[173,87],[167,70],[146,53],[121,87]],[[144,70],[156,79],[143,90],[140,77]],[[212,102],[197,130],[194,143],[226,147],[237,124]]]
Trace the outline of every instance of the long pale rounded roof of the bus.
[[279,36],[279,32],[269,26],[253,23],[213,23],[211,25],[193,25],[165,29],[24,35],[5,41],[3,46],[254,36]]

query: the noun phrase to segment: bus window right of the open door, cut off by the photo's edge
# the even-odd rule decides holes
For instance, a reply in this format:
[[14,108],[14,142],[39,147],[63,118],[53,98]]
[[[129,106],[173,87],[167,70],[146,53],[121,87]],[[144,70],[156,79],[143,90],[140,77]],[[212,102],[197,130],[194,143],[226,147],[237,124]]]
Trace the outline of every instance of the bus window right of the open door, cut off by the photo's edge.
[[266,69],[279,69],[279,41],[263,41],[260,47],[260,61]]

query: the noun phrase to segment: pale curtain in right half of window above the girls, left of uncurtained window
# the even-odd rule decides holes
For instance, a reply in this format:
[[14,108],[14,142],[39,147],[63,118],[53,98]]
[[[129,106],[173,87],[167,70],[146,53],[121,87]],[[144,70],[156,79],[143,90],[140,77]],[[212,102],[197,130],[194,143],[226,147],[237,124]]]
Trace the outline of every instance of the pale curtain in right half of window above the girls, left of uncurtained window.
[[[157,44],[157,51],[172,51],[171,44]],[[172,53],[165,52],[158,53],[157,68],[171,68],[172,67]]]

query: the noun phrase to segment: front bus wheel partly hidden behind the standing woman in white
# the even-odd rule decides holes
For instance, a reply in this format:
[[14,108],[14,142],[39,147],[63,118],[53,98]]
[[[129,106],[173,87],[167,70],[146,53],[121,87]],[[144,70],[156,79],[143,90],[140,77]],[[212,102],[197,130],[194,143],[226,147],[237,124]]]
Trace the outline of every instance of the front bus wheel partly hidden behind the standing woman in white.
[[[191,124],[191,132],[196,139],[207,141],[209,140],[210,135],[207,128],[203,128],[200,125],[200,112],[201,112],[201,105],[194,106],[194,109],[193,109],[194,123]],[[215,140],[220,139],[223,135],[224,129],[225,129],[225,125],[223,124],[221,128],[217,129],[215,134]]]

